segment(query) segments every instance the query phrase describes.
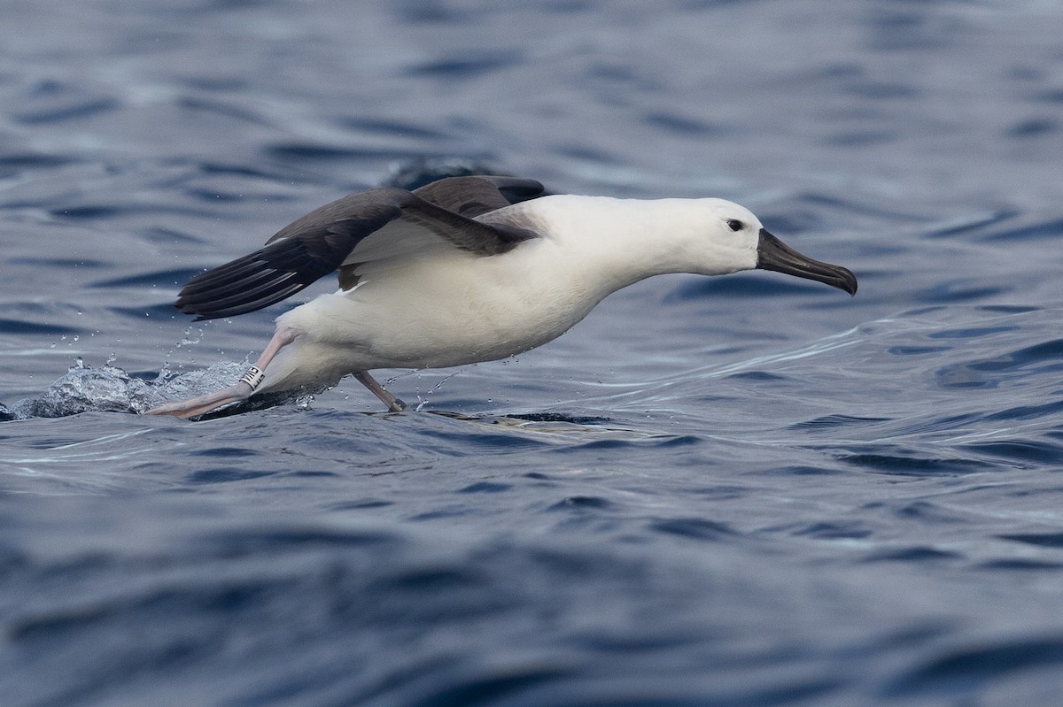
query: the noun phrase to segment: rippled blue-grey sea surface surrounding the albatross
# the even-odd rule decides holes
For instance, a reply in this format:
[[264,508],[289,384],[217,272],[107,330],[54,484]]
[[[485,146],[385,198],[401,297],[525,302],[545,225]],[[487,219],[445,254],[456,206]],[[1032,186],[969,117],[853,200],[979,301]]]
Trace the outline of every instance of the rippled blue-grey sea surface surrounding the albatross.
[[[4,707],[1061,704],[1058,2],[0,14]],[[659,277],[377,372],[409,412],[135,414],[334,287],[189,277],[469,171],[731,199],[860,291]]]

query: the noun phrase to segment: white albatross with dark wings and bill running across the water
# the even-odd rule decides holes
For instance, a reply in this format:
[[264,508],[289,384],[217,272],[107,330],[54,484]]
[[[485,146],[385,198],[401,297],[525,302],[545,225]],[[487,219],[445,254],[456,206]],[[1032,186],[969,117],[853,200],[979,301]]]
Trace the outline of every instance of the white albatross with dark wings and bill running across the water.
[[174,306],[199,321],[253,312],[339,277],[335,293],[276,317],[273,338],[234,385],[149,413],[195,417],[349,375],[400,411],[405,403],[369,372],[505,359],[560,337],[607,295],[647,277],[753,269],[857,291],[851,272],[802,255],[722,199],[543,195],[538,182],[505,176],[369,189],[185,284]]

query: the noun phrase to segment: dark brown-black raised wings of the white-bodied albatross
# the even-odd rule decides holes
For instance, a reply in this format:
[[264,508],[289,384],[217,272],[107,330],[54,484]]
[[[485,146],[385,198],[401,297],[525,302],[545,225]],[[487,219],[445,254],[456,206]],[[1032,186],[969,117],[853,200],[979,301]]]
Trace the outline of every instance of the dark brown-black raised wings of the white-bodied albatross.
[[[441,186],[454,179],[467,183]],[[467,206],[474,211],[489,204],[507,206],[500,189],[529,193],[541,185],[510,177],[455,177],[421,189],[442,204]],[[499,179],[501,184],[492,182]],[[491,194],[493,190],[493,195]],[[421,190],[418,190],[421,191]],[[461,194],[465,193],[466,196]],[[253,312],[285,299],[347,263],[394,257],[432,244],[446,243],[479,256],[504,253],[536,235],[505,225],[489,225],[426,201],[403,189],[370,189],[350,194],[310,211],[282,228],[265,247],[188,280],[174,306],[199,320]],[[476,204],[476,206],[469,206]],[[501,206],[486,208],[493,210]],[[391,228],[386,228],[395,224]],[[401,251],[388,248],[389,231],[401,228]],[[383,230],[382,230],[383,229]],[[396,231],[396,234],[399,232]],[[369,236],[377,234],[367,243]],[[383,247],[382,247],[383,245]],[[375,247],[374,247],[375,246]]]

